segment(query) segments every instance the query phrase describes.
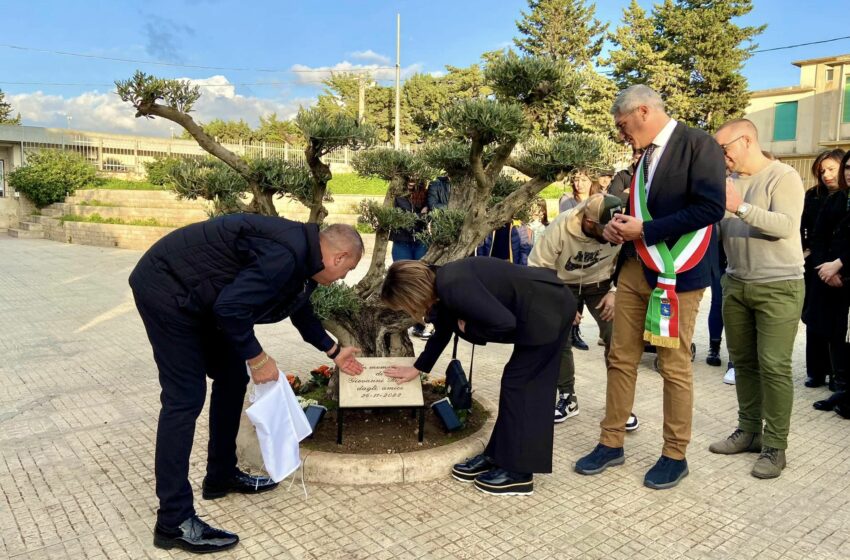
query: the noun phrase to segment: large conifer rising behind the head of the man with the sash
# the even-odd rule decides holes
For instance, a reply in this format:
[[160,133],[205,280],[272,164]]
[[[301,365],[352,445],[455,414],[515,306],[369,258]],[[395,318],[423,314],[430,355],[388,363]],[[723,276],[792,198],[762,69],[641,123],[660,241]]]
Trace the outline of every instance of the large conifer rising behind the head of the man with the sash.
[[742,115],[748,93],[741,69],[765,26],[732,20],[751,10],[751,0],[665,0],[648,16],[632,0],[610,36],[618,48],[607,63],[617,85],[646,84],[672,116],[709,131]]

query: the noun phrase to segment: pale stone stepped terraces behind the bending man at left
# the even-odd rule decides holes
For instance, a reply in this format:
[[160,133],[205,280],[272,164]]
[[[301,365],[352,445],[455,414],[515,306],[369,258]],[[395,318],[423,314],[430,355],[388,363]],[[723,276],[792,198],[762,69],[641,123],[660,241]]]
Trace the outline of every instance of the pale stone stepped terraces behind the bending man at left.
[[[336,196],[325,203],[328,223],[357,223],[357,206],[365,197]],[[374,197],[381,201],[383,197]],[[278,213],[291,220],[306,221],[309,211],[288,198],[276,199]],[[65,202],[43,208],[8,234],[22,239],[50,239],[65,243],[145,250],[177,227],[206,220],[211,205],[206,201],[180,200],[169,191],[122,191],[92,189],[77,191]],[[64,216],[91,217],[123,222],[156,220],[159,225],[105,224],[62,220]]]

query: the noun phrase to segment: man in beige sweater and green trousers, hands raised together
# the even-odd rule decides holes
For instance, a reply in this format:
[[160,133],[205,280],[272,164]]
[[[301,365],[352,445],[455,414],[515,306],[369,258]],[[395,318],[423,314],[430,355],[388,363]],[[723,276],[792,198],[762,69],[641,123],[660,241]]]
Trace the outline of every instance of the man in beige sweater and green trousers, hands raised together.
[[803,307],[803,182],[792,167],[762,154],[752,122],[730,121],[715,138],[732,172],[720,236],[729,261],[723,322],[735,364],[738,428],[709,450],[760,453],[752,475],[776,478],[785,467],[791,352]]

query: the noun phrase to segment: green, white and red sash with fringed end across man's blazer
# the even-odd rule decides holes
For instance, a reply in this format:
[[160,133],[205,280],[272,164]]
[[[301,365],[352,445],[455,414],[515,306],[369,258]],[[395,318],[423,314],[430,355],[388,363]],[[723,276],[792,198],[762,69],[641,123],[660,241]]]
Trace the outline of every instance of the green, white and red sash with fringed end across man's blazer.
[[[641,161],[641,164],[643,162]],[[632,216],[643,222],[652,221],[646,198],[646,181],[642,165],[632,178],[629,206]],[[679,347],[679,298],[676,295],[676,274],[695,267],[702,260],[711,241],[711,225],[686,233],[673,246],[665,241],[647,245],[643,238],[634,240],[643,264],[658,273],[658,282],[649,296],[646,308],[643,339],[664,348]]]

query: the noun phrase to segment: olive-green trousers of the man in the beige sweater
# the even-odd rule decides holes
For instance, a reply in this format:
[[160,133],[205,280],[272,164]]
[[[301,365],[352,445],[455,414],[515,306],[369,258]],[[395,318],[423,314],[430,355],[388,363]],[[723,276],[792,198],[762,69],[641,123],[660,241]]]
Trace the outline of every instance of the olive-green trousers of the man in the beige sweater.
[[803,308],[803,280],[755,284],[727,275],[721,283],[726,346],[735,364],[738,428],[763,431],[764,446],[786,449],[794,400],[791,354]]

